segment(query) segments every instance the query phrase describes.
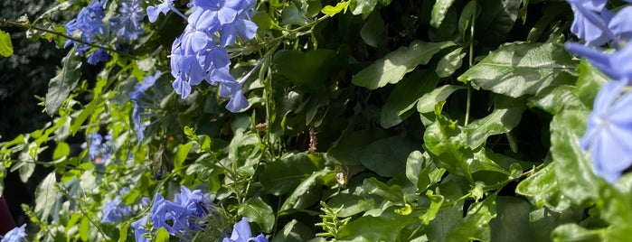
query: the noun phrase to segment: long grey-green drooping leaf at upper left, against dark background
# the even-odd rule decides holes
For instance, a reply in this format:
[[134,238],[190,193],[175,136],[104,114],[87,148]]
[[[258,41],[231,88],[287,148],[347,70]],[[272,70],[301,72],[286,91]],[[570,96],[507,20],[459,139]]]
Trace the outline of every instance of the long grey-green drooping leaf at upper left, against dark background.
[[48,83],[45,107],[49,116],[57,112],[57,109],[71,94],[71,90],[77,86],[81,76],[81,59],[76,48],[73,47],[71,51],[68,51],[68,55],[61,62],[63,66],[60,73]]

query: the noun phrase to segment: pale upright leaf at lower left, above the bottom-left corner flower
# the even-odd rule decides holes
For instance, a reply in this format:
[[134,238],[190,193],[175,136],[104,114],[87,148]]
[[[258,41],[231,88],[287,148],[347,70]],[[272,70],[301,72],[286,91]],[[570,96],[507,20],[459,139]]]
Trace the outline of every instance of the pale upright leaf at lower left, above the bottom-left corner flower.
[[35,189],[35,214],[41,221],[46,221],[51,214],[52,205],[57,198],[55,189],[57,179],[55,172],[49,173]]

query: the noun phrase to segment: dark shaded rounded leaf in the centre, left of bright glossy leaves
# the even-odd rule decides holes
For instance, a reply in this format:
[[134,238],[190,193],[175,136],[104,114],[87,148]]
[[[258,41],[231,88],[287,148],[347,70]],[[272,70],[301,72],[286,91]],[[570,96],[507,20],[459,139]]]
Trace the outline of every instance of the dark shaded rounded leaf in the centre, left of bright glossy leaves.
[[364,148],[360,162],[369,170],[384,177],[393,177],[406,169],[406,158],[419,148],[407,138],[394,136],[377,140]]

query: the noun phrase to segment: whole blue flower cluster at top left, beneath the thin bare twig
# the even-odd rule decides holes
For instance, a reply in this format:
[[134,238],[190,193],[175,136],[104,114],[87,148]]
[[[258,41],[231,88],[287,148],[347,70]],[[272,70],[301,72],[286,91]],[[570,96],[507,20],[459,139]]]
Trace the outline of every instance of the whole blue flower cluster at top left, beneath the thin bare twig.
[[[93,0],[90,5],[82,8],[77,18],[66,23],[66,33],[78,37],[82,42],[107,44],[110,37],[118,37],[120,40],[134,41],[144,33],[142,20],[145,17],[140,7],[140,0],[121,1],[119,15],[106,18],[105,8],[108,0]],[[109,22],[107,21],[109,19]],[[117,30],[116,33],[110,33]],[[70,45],[77,47],[80,56],[86,56],[90,51],[90,45],[66,40],[64,48]],[[91,52],[88,63],[96,65],[99,61],[108,61],[108,51],[97,49]]]

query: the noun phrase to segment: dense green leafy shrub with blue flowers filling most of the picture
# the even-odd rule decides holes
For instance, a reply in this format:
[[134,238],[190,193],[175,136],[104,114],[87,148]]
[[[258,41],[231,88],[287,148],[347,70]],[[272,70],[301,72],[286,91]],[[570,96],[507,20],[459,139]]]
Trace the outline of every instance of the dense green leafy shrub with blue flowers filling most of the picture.
[[629,239],[632,176],[604,180],[580,146],[611,73],[565,50],[568,3],[208,3],[0,21],[68,50],[50,122],[0,149],[0,177],[51,169],[29,237]]

